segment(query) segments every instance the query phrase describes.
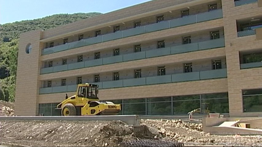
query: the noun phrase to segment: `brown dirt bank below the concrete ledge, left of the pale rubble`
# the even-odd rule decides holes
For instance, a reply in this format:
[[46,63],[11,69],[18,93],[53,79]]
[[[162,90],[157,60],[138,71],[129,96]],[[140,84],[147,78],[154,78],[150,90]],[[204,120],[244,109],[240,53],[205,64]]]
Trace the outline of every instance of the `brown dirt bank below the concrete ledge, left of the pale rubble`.
[[36,146],[119,146],[155,135],[145,125],[121,121],[0,121],[0,132],[1,142],[11,138],[18,145]]

